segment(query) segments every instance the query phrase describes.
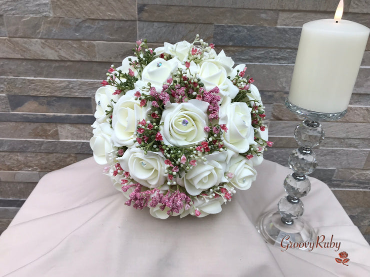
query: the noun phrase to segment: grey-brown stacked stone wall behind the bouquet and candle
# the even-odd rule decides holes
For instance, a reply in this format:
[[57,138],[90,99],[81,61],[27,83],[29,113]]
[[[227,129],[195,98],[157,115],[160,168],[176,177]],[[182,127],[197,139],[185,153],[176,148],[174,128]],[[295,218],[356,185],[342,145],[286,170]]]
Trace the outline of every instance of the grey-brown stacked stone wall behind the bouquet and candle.
[[[297,146],[293,130],[298,119],[283,101],[301,26],[333,17],[337,3],[0,0],[0,232],[44,174],[91,156],[95,90],[110,64],[118,66],[138,38],[147,38],[156,47],[164,41],[192,41],[199,33],[237,63],[246,63],[261,91],[274,142],[265,158],[287,166],[287,157]],[[370,27],[369,13],[370,0],[344,2],[344,19]],[[328,184],[367,238],[369,50],[370,42],[347,115],[323,123],[325,140],[315,149],[319,168],[312,174]],[[276,180],[281,190],[282,182]]]

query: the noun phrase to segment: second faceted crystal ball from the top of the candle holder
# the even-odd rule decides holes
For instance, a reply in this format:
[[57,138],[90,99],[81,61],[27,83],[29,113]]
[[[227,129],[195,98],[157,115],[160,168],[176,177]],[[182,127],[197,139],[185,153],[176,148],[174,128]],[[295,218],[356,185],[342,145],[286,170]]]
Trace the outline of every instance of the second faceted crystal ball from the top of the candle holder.
[[316,155],[309,148],[299,147],[290,153],[288,165],[300,175],[310,174],[317,167]]

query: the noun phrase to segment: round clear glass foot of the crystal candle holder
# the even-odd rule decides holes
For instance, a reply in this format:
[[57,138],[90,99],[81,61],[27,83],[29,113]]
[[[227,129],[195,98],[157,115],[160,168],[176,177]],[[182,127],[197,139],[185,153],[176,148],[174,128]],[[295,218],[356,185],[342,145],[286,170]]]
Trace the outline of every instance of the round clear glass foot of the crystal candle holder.
[[289,247],[290,242],[290,246],[305,250],[308,248],[307,243],[315,241],[316,238],[316,232],[303,219],[297,218],[292,224],[286,224],[281,221],[280,213],[275,211],[261,215],[256,228],[267,243],[281,247],[282,250],[286,246]]

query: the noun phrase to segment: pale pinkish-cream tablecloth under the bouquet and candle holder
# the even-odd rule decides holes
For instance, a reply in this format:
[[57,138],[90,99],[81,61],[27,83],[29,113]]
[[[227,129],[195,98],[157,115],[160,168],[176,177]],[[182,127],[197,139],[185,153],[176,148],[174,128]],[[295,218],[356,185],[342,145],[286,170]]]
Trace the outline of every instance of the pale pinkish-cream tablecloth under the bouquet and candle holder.
[[45,175],[0,236],[0,276],[370,276],[370,247],[328,187],[311,178],[304,218],[340,242],[312,252],[267,245],[254,225],[289,173],[264,161],[217,215],[159,220],[124,205],[92,158]]

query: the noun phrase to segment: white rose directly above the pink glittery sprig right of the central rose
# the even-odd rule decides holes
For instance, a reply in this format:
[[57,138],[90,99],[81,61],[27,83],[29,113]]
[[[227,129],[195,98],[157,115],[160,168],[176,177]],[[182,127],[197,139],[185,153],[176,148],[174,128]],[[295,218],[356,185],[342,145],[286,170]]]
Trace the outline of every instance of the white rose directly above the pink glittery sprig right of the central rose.
[[206,90],[211,90],[216,86],[219,88],[221,96],[229,96],[231,99],[239,92],[239,89],[227,78],[226,69],[217,63],[203,62],[200,66],[199,76]]

